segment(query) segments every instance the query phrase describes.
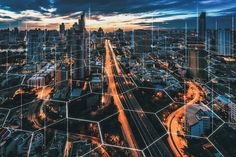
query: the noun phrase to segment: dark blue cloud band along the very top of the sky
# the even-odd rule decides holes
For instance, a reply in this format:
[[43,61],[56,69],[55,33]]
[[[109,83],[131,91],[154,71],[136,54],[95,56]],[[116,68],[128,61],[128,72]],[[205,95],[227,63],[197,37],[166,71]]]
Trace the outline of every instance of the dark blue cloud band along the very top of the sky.
[[[214,3],[214,0],[2,0],[0,8],[8,8],[12,11],[37,10],[42,11],[44,8],[57,8],[55,14],[65,15],[73,12],[88,10],[91,8],[94,12],[100,13],[141,13],[150,11],[164,10],[188,10],[196,11],[207,10],[219,6],[236,5],[234,0],[224,0]],[[203,3],[208,2],[208,3]],[[211,2],[211,3],[209,3]]]

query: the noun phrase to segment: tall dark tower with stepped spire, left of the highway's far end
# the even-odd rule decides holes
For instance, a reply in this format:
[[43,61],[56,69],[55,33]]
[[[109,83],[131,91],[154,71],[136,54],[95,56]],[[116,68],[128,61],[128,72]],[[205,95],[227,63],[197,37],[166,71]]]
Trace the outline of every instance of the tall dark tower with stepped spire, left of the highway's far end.
[[73,79],[83,80],[86,75],[86,69],[84,63],[87,61],[87,31],[85,28],[85,13],[82,13],[79,24],[73,25],[72,38],[71,38],[71,50],[75,57],[75,63],[73,67]]

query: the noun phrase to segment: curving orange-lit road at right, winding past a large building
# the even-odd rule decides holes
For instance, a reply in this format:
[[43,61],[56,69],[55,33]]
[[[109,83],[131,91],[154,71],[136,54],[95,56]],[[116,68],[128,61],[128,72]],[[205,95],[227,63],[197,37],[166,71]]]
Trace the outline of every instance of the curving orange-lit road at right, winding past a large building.
[[[187,142],[182,137],[178,136],[178,131],[181,132],[183,129],[183,126],[178,122],[180,118],[184,118],[184,112],[186,108],[192,104],[198,103],[203,101],[203,90],[200,89],[199,85],[194,82],[187,82],[188,90],[185,95],[185,99],[187,100],[187,103],[176,110],[175,112],[172,112],[166,120],[166,126],[168,128],[168,143],[170,145],[170,148],[172,149],[173,153],[176,157],[187,157],[188,155],[185,154],[184,148],[187,147]],[[184,133],[183,133],[184,134]]]

